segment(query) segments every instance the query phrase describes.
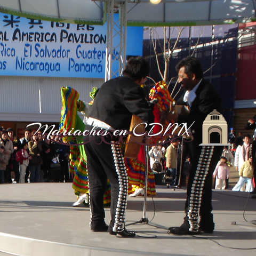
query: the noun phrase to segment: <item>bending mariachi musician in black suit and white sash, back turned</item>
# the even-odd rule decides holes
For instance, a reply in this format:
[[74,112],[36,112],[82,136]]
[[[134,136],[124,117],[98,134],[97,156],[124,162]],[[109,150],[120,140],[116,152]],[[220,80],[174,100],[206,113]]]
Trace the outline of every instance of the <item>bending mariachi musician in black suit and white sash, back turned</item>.
[[[124,76],[110,79],[100,87],[85,130],[90,131],[95,125],[98,126],[95,131],[105,135],[85,135],[84,147],[89,174],[91,230],[132,237],[135,233],[125,229],[128,189],[126,167],[122,148],[119,143],[115,143],[119,140],[119,136],[116,135],[119,132],[115,134],[114,131],[129,131],[133,114],[139,116],[145,123],[153,123],[154,116],[141,87],[149,75],[148,62],[142,57],[131,58],[123,74]],[[111,183],[109,226],[105,223],[103,209],[107,177]]]

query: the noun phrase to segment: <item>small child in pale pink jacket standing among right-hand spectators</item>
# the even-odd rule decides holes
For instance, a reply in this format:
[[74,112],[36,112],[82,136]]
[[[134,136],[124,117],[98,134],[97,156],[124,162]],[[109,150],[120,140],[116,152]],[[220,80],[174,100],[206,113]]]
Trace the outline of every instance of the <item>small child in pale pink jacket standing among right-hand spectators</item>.
[[213,177],[216,177],[215,189],[225,189],[226,179],[229,177],[229,166],[225,156],[220,158],[220,164],[216,166]]

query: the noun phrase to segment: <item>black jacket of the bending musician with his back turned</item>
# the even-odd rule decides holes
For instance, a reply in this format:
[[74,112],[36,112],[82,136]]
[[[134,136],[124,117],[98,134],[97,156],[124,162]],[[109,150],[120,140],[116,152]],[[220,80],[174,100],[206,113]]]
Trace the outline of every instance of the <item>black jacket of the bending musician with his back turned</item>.
[[103,83],[93,101],[89,116],[116,130],[129,131],[133,114],[139,116],[142,122],[154,122],[144,90],[131,78],[122,76]]

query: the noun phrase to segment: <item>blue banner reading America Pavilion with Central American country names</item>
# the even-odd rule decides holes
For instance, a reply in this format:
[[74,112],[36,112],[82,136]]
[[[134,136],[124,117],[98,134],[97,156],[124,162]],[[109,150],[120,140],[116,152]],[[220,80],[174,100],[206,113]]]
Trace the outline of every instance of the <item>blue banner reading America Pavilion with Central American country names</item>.
[[[114,40],[118,45],[119,38]],[[142,55],[142,40],[143,27],[127,27],[126,55]],[[106,45],[107,23],[77,25],[0,13],[0,75],[104,78]]]

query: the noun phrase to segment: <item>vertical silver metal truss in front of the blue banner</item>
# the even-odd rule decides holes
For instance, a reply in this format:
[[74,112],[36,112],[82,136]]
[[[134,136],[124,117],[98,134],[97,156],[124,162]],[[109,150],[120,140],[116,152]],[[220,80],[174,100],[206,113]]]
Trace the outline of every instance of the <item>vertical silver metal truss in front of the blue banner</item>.
[[[114,20],[114,13],[119,13]],[[107,3],[107,49],[105,81],[123,73],[126,60],[127,0]]]

